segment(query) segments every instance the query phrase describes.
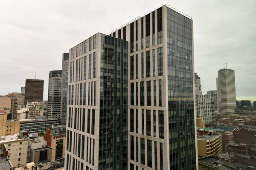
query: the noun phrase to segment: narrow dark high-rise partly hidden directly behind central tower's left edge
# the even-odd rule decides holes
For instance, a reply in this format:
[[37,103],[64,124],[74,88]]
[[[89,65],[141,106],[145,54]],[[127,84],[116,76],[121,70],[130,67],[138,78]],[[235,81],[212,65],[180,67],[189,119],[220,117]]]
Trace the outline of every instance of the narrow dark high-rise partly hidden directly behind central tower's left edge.
[[67,83],[68,83],[68,53],[62,54],[62,81],[61,81],[61,125],[67,120]]

